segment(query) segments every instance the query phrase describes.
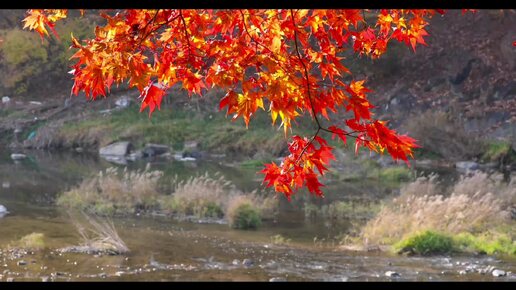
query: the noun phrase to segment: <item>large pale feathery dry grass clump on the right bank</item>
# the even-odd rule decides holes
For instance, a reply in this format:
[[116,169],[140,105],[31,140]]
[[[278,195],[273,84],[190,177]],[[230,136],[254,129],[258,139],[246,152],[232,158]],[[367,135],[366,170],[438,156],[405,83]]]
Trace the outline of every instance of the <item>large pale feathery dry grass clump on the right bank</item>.
[[366,245],[393,244],[425,230],[482,233],[514,223],[507,209],[516,189],[492,176],[476,173],[459,180],[448,197],[441,193],[435,176],[418,178],[368,222],[362,240]]

